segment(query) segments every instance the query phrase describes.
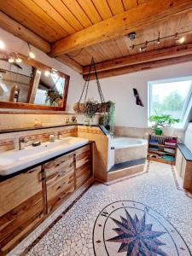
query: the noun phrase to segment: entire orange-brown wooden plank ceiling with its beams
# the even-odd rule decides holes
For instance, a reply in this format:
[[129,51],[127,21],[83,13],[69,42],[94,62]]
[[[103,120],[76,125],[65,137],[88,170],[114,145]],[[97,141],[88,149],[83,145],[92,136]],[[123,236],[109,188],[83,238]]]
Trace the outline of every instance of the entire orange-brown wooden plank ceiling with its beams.
[[[191,0],[2,0],[0,26],[73,67],[84,79],[92,56],[102,78],[160,67],[165,59],[170,59],[165,65],[190,61],[192,55]],[[159,32],[160,38],[188,33],[184,47],[172,37],[148,44],[140,53],[139,47],[130,47],[127,34],[132,31],[137,32],[134,44],[157,39]]]

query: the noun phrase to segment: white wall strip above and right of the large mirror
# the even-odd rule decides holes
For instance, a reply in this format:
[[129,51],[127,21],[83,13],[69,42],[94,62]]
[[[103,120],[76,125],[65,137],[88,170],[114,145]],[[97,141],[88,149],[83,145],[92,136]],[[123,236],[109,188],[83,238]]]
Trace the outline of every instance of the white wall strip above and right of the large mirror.
[[[20,40],[20,38],[16,38],[14,35],[4,31],[1,28],[0,40],[2,40],[6,44],[7,48],[14,49],[16,52],[19,52],[23,55],[28,55],[28,47],[26,42]],[[73,102],[77,102],[79,100],[79,94],[84,84],[82,76],[74,71],[72,68],[67,67],[60,61],[55,60],[54,58],[50,58],[48,55],[44,54],[44,52],[34,48],[33,46],[32,51],[35,53],[37,61],[42,62],[49,67],[53,67],[63,73],[67,73],[67,75],[70,76],[66,110],[71,111]]]

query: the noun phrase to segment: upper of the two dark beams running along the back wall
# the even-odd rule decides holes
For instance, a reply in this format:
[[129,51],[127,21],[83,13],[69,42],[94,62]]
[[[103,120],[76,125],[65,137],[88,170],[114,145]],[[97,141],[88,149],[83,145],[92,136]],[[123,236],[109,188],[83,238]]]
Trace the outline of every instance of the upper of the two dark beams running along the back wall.
[[[113,68],[125,67],[130,65],[136,65],[148,61],[158,61],[164,59],[170,59],[173,57],[191,55],[192,54],[192,44],[182,44],[173,47],[168,47],[164,49],[155,49],[153,51],[143,52],[137,55],[129,55],[125,57],[120,57],[110,61],[103,61],[96,63],[96,71],[101,72]],[[90,66],[84,67],[83,74],[87,74],[90,71]],[[94,69],[91,68],[91,73]]]

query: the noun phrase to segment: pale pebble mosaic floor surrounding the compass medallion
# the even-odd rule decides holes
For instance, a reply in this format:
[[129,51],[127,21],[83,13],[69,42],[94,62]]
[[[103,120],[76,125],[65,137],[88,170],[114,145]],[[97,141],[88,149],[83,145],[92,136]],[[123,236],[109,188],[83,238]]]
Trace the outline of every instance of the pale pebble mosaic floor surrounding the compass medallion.
[[[38,243],[30,247],[30,250],[24,254],[28,256],[176,256],[175,253],[118,253],[115,249],[114,253],[102,254],[102,251],[101,253],[94,253],[93,241],[95,237],[93,238],[93,229],[96,218],[102,209],[115,201],[136,201],[138,204],[148,206],[154,212],[159,212],[160,216],[172,224],[183,237],[189,251],[186,252],[183,248],[183,252],[181,251],[177,255],[192,255],[191,195],[179,187],[174,167],[150,162],[146,164],[146,171],[117,183],[94,183]],[[177,241],[175,243],[177,244]],[[15,256],[20,255],[20,253],[15,249],[9,255]]]

